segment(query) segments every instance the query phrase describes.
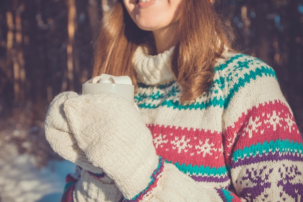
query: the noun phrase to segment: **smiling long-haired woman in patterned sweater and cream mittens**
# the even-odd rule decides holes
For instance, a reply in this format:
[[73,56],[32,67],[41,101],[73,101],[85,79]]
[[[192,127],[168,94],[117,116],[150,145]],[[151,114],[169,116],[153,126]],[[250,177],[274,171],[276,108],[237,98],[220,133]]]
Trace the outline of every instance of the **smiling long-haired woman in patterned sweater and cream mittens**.
[[230,47],[208,0],[118,0],[93,76],[129,75],[136,106],[65,92],[45,134],[74,162],[63,202],[303,201],[303,145],[271,67]]

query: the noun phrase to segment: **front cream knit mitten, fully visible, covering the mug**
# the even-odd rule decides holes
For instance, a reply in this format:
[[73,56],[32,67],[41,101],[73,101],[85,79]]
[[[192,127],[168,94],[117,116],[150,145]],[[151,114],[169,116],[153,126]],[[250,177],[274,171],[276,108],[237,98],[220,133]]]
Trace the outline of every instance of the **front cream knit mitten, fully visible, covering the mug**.
[[64,111],[79,147],[115,181],[126,199],[150,185],[159,158],[151,132],[133,105],[102,92],[72,97],[64,103]]

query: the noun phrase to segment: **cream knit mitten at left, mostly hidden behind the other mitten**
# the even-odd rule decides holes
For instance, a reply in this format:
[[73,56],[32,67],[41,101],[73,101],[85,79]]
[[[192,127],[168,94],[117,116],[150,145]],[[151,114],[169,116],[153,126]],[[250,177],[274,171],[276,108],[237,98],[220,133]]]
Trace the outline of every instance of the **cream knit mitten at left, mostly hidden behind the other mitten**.
[[93,166],[78,147],[63,110],[63,104],[67,99],[78,96],[75,92],[64,92],[53,99],[45,118],[45,137],[52,149],[63,158],[85,170],[100,173],[102,170]]

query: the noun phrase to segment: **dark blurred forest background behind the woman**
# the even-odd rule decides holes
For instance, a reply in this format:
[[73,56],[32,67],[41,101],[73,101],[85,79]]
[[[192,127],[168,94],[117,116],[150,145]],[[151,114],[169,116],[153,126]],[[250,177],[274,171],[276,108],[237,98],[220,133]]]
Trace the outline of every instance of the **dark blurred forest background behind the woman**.
[[[214,6],[236,31],[235,45],[274,68],[303,132],[303,0]],[[91,77],[106,10],[107,0],[0,0],[0,158],[30,154],[37,166],[59,158],[45,140],[45,114],[54,96],[80,92]]]

